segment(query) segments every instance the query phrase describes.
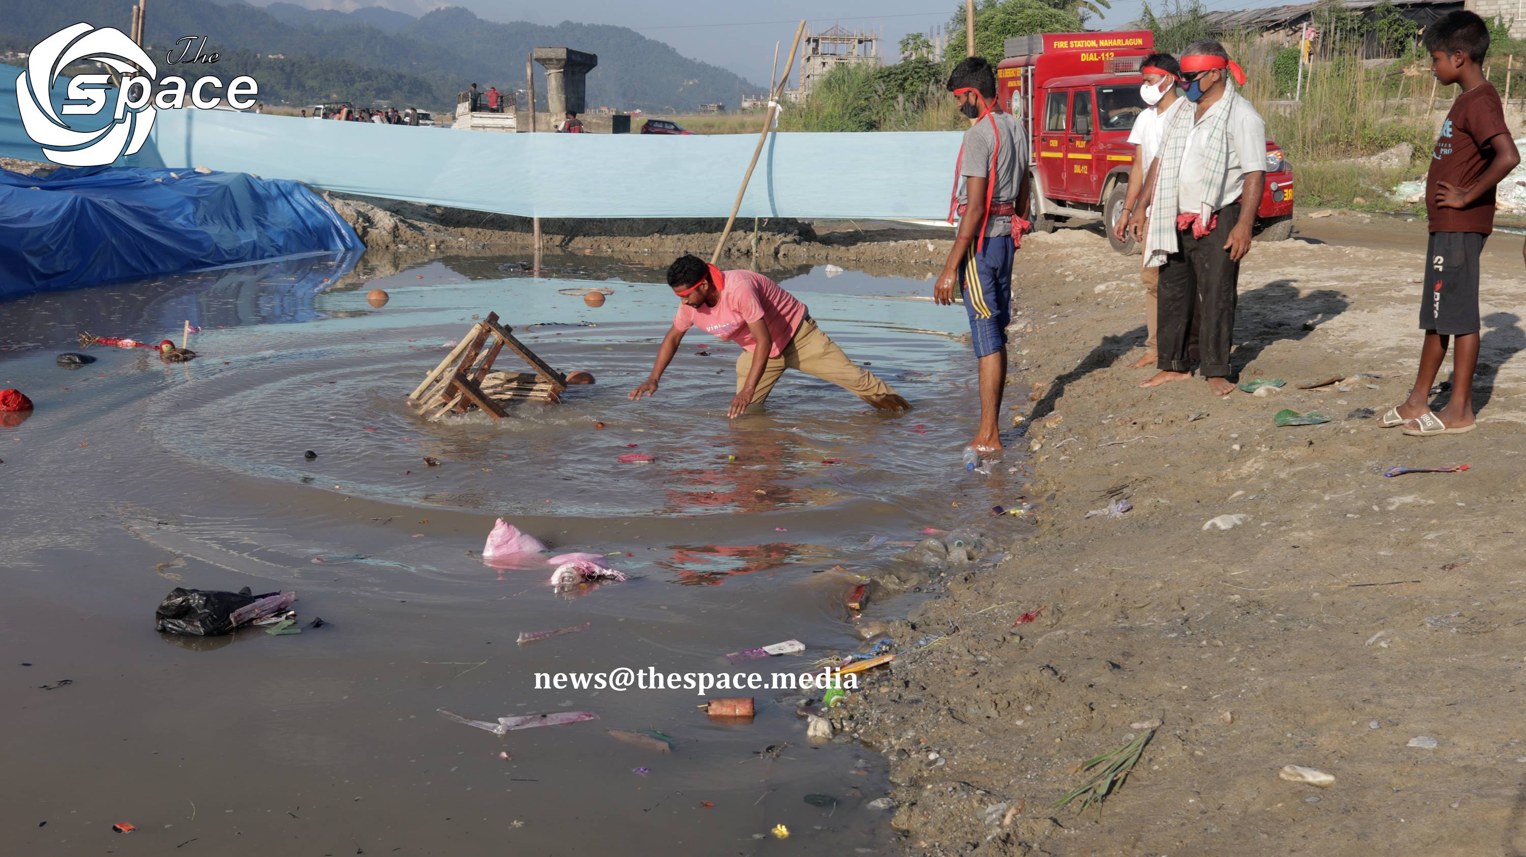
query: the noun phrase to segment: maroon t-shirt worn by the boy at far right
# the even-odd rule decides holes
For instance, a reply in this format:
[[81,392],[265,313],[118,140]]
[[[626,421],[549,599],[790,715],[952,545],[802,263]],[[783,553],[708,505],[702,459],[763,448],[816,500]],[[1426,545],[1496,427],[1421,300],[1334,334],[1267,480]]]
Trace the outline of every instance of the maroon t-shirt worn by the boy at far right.
[[1508,134],[1505,108],[1494,84],[1485,82],[1451,102],[1447,121],[1431,150],[1431,168],[1425,174],[1425,214],[1431,232],[1494,231],[1494,188],[1479,196],[1468,208],[1436,208],[1436,182],[1457,188],[1473,186],[1494,160],[1494,150],[1485,148],[1489,137]]

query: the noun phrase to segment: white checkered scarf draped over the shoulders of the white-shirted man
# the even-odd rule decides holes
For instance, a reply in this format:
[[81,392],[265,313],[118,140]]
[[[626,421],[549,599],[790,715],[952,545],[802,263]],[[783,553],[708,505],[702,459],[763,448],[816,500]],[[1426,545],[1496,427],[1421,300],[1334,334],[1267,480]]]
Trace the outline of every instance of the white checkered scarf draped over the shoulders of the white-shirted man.
[[[1213,107],[1209,107],[1207,136],[1202,147],[1195,154],[1204,159],[1202,209],[1198,217],[1202,225],[1209,225],[1213,217],[1213,203],[1224,197],[1224,165],[1228,162],[1228,125],[1230,115],[1241,108],[1251,107],[1245,96],[1235,92],[1235,81],[1224,81],[1224,95]],[[1196,110],[1192,104],[1183,105],[1177,112],[1175,121],[1166,128],[1166,142],[1160,148],[1160,168],[1155,171],[1155,194],[1151,197],[1154,214],[1149,218],[1149,231],[1144,235],[1144,267],[1160,267],[1166,264],[1166,257],[1177,252],[1177,180],[1181,177],[1181,156],[1187,150],[1187,134],[1196,125]]]

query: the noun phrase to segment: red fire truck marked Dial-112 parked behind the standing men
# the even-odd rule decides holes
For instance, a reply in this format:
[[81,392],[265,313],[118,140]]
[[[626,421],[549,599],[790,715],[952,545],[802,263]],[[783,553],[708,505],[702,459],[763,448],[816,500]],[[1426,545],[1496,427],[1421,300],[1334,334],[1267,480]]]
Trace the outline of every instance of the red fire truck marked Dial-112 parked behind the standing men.
[[[1148,110],[1140,98],[1140,63],[1154,44],[1151,31],[1007,40],[1007,58],[996,66],[996,96],[1029,122],[1033,192],[1027,218],[1039,232],[1071,218],[1102,218],[1116,251],[1138,251],[1132,240],[1114,238],[1112,225],[1123,214],[1134,165],[1129,131],[1135,116]],[[1293,235],[1293,168],[1271,141],[1256,232],[1262,241]]]

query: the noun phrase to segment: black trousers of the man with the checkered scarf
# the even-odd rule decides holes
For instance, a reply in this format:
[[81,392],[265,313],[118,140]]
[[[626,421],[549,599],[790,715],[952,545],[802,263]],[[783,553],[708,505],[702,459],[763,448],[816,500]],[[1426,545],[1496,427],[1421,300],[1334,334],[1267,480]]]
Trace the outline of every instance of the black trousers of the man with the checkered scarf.
[[[1230,350],[1235,347],[1235,302],[1239,299],[1239,263],[1224,244],[1239,223],[1239,203],[1215,212],[1213,231],[1193,238],[1192,229],[1177,232],[1178,251],[1160,269],[1155,304],[1158,367],[1164,371],[1190,371],[1187,347],[1198,327],[1202,377],[1230,377]],[[1201,318],[1199,318],[1201,316]]]

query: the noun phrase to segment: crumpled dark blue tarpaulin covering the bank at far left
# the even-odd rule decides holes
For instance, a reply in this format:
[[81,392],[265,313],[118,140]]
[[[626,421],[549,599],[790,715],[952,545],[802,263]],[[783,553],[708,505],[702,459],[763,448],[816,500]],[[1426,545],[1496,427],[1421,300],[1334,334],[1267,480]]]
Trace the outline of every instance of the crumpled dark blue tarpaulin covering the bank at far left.
[[354,229],[298,182],[163,168],[0,170],[0,299],[360,247]]

